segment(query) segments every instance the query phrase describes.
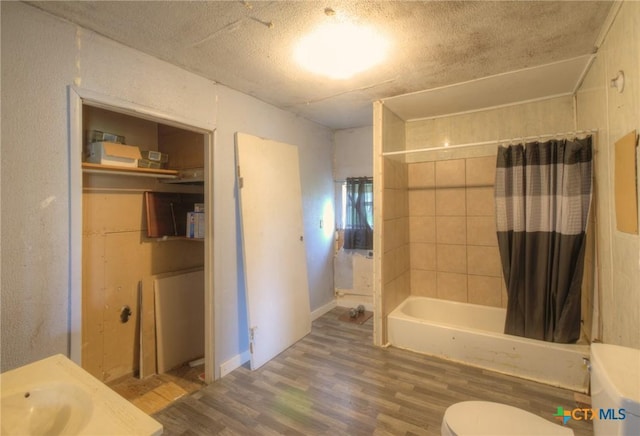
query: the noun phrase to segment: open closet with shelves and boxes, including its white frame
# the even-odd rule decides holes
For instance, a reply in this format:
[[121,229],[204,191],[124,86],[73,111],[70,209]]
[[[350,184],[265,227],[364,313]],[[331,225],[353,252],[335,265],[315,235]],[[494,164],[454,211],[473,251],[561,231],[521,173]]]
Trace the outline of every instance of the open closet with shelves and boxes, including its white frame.
[[69,96],[69,355],[112,387],[156,374],[210,383],[214,128]]

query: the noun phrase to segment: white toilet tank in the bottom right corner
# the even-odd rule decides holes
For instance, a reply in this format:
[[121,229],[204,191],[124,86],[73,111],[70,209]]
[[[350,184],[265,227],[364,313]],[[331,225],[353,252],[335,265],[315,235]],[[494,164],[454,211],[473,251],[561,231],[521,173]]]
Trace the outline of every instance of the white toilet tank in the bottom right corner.
[[595,436],[640,435],[640,350],[591,344]]

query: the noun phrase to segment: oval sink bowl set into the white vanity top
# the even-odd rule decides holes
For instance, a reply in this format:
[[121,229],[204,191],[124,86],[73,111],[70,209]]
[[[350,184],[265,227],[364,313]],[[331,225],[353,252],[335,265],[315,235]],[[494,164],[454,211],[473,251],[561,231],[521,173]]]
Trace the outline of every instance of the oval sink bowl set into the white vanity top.
[[79,434],[93,412],[91,396],[64,382],[3,391],[0,401],[0,430],[6,436]]

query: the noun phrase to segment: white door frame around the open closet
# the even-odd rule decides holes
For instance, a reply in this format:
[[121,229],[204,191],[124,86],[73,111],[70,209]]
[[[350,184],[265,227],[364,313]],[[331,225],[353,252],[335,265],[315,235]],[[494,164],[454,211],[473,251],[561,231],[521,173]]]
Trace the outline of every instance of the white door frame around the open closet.
[[93,106],[125,115],[179,127],[204,135],[204,361],[205,382],[214,380],[215,313],[213,288],[213,162],[215,124],[186,119],[147,106],[100,94],[77,86],[68,87],[69,99],[69,320],[67,354],[82,366],[82,107]]

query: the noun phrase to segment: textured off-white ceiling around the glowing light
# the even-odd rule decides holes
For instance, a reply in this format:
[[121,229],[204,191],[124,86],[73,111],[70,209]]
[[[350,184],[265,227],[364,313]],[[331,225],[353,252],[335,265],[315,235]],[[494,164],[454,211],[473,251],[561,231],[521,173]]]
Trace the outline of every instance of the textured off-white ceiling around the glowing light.
[[[372,101],[400,94],[433,88],[442,94],[441,88],[447,85],[523,69],[534,76],[540,70],[537,82],[554,80],[548,76],[555,74],[549,68],[532,67],[592,54],[612,5],[602,1],[339,0],[27,3],[335,129],[370,125]],[[327,16],[327,7],[336,15]],[[388,60],[347,80],[325,79],[297,66],[292,52],[298,37],[344,16],[388,35],[392,47]],[[569,79],[572,87],[580,73]],[[510,83],[510,77],[502,75],[502,84]],[[474,92],[480,97],[475,99],[495,94],[492,88],[483,94],[485,81],[477,82]],[[534,98],[536,93],[549,92],[531,88]],[[452,95],[463,101],[466,94],[461,96],[457,89]],[[446,92],[439,98],[446,101]],[[469,100],[463,106],[477,104]],[[442,111],[455,112],[456,106],[431,110],[446,113]]]

